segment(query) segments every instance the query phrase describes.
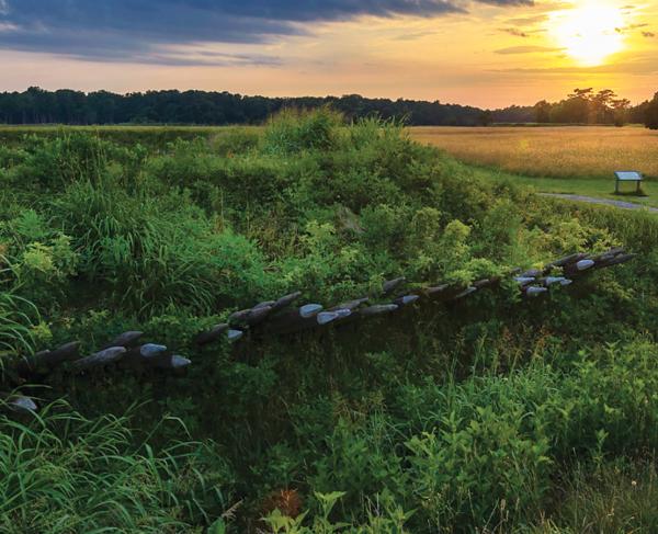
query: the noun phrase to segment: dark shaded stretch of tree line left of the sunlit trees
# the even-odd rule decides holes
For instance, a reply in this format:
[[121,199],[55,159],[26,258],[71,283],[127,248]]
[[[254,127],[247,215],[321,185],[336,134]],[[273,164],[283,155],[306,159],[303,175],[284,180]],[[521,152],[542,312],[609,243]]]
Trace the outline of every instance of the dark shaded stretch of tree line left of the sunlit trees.
[[261,124],[283,107],[330,105],[350,118],[378,115],[412,125],[479,123],[481,110],[439,101],[344,96],[265,98],[228,92],[147,91],[116,94],[72,90],[0,93],[0,123],[4,124]]

